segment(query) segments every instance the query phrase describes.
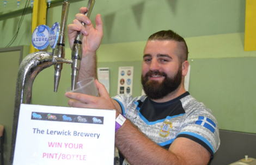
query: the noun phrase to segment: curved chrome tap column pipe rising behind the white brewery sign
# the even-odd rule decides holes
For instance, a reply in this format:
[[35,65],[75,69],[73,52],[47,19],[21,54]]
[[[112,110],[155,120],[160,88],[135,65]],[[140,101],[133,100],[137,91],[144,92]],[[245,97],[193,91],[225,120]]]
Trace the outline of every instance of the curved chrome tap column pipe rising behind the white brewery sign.
[[13,135],[11,137],[11,155],[9,164],[13,164],[20,105],[22,103],[31,104],[32,85],[36,75],[47,67],[63,63],[72,64],[72,60],[53,56],[50,52],[35,52],[27,55],[26,58],[22,60],[17,75]]

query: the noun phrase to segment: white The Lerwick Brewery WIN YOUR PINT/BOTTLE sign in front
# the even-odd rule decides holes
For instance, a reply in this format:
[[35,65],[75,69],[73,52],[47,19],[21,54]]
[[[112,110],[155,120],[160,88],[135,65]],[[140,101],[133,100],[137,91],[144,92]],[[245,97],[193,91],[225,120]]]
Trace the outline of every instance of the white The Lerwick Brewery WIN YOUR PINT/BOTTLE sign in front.
[[21,104],[19,164],[114,163],[115,111]]

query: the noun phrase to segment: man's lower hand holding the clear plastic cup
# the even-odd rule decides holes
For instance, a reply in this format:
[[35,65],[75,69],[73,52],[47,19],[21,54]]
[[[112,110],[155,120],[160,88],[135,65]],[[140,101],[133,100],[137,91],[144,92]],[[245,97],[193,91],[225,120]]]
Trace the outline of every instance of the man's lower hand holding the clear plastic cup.
[[[98,80],[95,80],[96,87],[99,89],[100,97],[89,96],[87,94],[67,92],[65,96],[70,98],[69,105],[72,107],[86,107],[97,109],[116,109],[109,97],[107,90]],[[118,112],[117,112],[118,113]],[[118,113],[119,115],[119,113]]]

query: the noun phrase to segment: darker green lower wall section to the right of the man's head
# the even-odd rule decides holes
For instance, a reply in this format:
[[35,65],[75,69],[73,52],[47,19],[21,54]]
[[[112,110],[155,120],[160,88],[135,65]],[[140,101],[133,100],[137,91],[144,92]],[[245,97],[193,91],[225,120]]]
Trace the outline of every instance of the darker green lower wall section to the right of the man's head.
[[256,133],[256,58],[190,61],[190,93],[214,113],[220,129]]

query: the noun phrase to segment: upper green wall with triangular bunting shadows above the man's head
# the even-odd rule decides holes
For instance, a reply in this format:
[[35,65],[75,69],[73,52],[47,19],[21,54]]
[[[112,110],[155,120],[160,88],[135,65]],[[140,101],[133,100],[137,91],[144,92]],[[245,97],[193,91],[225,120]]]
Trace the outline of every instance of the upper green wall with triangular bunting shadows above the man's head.
[[[72,23],[88,1],[70,4]],[[241,33],[245,0],[108,0],[96,1],[91,15],[101,14],[103,44],[145,41],[150,34],[172,29],[183,37]],[[47,25],[60,22],[60,6],[48,8]],[[66,40],[68,42],[68,40]]]

